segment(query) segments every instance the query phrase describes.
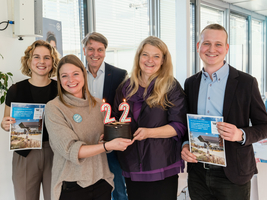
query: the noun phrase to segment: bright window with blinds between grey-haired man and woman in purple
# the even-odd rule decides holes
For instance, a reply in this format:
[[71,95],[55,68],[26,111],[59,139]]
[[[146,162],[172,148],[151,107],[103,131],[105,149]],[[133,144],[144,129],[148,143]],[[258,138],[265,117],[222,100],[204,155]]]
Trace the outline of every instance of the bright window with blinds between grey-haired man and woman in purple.
[[147,0],[95,1],[96,31],[108,39],[105,61],[132,70],[140,42],[149,35]]

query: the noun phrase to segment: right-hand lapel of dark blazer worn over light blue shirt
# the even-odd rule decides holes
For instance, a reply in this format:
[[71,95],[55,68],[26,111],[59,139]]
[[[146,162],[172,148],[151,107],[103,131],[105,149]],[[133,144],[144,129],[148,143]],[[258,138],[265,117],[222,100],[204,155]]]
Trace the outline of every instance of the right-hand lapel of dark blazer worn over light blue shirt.
[[223,103],[223,117],[224,121],[227,121],[230,108],[235,97],[235,91],[238,84],[238,72],[235,68],[229,65],[229,76],[226,83],[225,94],[224,94],[224,103]]

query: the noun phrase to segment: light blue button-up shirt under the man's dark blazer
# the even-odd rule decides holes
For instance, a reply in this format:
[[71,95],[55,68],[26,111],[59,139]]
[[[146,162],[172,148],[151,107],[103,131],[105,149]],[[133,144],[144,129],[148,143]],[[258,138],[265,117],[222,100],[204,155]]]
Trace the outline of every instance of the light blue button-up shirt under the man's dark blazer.
[[225,64],[212,74],[202,69],[202,77],[198,93],[198,109],[199,115],[222,116],[223,102],[226,82],[229,75],[229,65]]

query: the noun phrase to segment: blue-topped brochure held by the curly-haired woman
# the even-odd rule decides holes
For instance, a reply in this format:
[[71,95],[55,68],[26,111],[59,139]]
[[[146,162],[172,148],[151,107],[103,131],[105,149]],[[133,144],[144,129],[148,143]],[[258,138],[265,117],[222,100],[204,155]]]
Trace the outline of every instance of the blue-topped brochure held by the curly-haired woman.
[[45,104],[11,103],[9,150],[41,149]]

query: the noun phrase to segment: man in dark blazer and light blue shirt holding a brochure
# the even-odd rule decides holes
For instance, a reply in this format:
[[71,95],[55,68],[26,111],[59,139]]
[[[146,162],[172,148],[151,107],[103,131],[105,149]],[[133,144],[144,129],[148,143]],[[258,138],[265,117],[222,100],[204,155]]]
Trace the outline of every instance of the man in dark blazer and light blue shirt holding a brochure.
[[250,180],[257,173],[252,143],[267,137],[267,114],[257,80],[224,61],[227,37],[218,24],[203,29],[197,51],[204,68],[185,81],[189,113],[224,117],[217,129],[225,140],[227,164],[198,163],[184,143],[182,158],[188,162],[192,200],[249,200]]

